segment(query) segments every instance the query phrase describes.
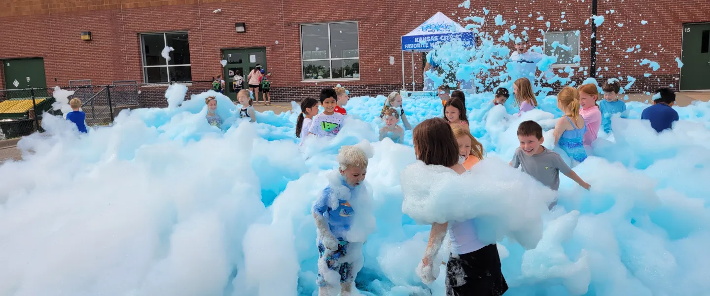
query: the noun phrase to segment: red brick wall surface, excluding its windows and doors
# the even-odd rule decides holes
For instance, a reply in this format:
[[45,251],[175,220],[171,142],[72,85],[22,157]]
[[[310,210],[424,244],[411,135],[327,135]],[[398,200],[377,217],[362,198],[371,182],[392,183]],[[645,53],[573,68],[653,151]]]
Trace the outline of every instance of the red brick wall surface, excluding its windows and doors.
[[[187,31],[192,80],[209,80],[220,73],[222,49],[266,48],[268,68],[274,74],[273,99],[300,99],[317,94],[320,87],[337,83],[351,89],[353,95],[387,94],[400,89],[402,84],[401,35],[436,11],[465,24],[463,18],[469,12],[484,16],[481,8],[486,7],[490,12],[482,30],[491,33],[500,30],[500,35],[510,25],[518,26],[516,33],[527,26],[533,45],[541,45],[535,41],[541,37],[537,29],[547,30],[547,21],[550,31],[581,31],[581,65],[589,65],[589,51],[584,49],[589,48],[591,28],[584,22],[589,18],[591,0],[471,0],[471,9],[459,4],[460,1],[450,0],[53,0],[41,4],[31,0],[4,1],[0,4],[0,59],[43,57],[48,87],[80,79],[91,79],[94,84],[114,80],[143,82],[140,34]],[[222,12],[212,13],[215,9]],[[561,23],[562,11],[566,23]],[[538,21],[537,12],[544,19]],[[495,26],[493,18],[498,14],[503,15],[506,25]],[[600,41],[597,66],[601,67],[597,75],[636,77],[633,92],[652,91],[669,84],[677,89],[679,68],[674,60],[681,53],[682,25],[710,21],[710,0],[600,0],[599,15],[606,20],[597,33]],[[642,20],[648,24],[642,25]],[[301,82],[300,24],[326,21],[358,22],[359,81]],[[235,32],[234,23],[238,22],[246,23],[246,33]],[[91,31],[93,40],[80,40],[82,31]],[[638,53],[626,53],[627,48],[636,45],[641,47]],[[394,65],[390,64],[390,57],[394,57]],[[653,72],[648,65],[638,65],[644,58],[658,62],[660,70]],[[419,85],[421,59],[420,55],[415,58],[418,68],[415,79]],[[644,73],[652,75],[643,77]],[[575,77],[582,80],[583,75]],[[411,84],[409,54],[405,54],[405,77]],[[3,81],[0,87],[4,85]]]

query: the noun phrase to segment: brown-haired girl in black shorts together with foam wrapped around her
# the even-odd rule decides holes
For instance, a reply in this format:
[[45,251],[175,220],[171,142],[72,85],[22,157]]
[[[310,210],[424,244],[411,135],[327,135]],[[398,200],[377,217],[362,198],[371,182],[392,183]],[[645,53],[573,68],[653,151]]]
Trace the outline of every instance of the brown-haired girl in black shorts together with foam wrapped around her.
[[508,285],[496,241],[508,236],[535,248],[553,192],[499,160],[481,160],[466,171],[459,163],[457,138],[444,119],[422,121],[413,142],[418,161],[400,174],[402,211],[419,224],[432,225],[417,275],[427,285],[436,280],[439,248],[448,233],[447,295],[503,295]]

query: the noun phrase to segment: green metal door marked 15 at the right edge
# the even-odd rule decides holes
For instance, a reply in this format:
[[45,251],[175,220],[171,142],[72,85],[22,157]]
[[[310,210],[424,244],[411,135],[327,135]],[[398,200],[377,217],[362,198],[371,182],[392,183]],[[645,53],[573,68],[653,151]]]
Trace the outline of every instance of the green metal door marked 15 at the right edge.
[[683,25],[680,90],[710,89],[710,23]]

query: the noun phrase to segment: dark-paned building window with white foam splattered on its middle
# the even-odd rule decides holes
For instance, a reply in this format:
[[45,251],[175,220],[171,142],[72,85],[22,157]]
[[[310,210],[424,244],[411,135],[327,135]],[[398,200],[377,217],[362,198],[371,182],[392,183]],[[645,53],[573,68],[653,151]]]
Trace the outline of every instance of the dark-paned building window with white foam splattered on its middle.
[[[190,71],[190,41],[187,32],[142,34],[143,81],[168,83],[192,81]],[[170,61],[163,57],[163,48],[170,46]]]

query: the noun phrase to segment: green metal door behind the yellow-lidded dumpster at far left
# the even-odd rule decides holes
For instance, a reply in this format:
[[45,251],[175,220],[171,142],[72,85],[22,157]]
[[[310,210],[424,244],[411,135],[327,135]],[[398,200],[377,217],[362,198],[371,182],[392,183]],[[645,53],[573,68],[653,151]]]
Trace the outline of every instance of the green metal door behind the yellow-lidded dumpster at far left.
[[[35,91],[35,97],[47,96],[47,79],[42,57],[30,59],[3,60],[5,89],[42,88]],[[26,92],[8,92],[9,99],[29,97]]]

